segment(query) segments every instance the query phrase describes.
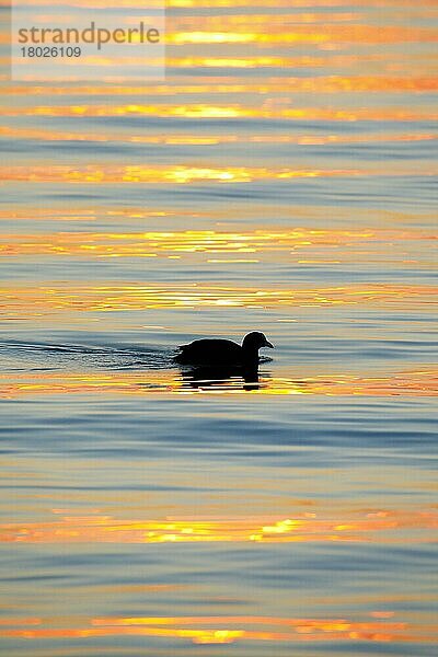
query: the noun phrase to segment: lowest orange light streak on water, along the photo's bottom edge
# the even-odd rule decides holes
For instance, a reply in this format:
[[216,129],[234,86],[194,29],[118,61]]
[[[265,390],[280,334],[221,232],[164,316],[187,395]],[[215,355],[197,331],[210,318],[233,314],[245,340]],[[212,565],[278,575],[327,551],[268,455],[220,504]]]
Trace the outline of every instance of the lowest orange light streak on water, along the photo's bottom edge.
[[[371,612],[372,613],[372,612]],[[192,639],[195,644],[221,645],[237,641],[412,643],[435,641],[431,623],[414,624],[387,616],[300,619],[255,615],[217,616],[108,616],[88,621],[69,619],[69,626],[53,627],[49,619],[15,619],[0,629],[0,636],[26,639],[67,639],[105,636],[153,636]],[[376,612],[379,613],[379,612]],[[391,620],[388,620],[391,619]],[[22,627],[13,627],[14,624]],[[43,625],[43,626],[41,626]],[[45,626],[44,626],[45,625]],[[74,626],[76,625],[76,626]],[[267,644],[269,645],[269,644]]]

